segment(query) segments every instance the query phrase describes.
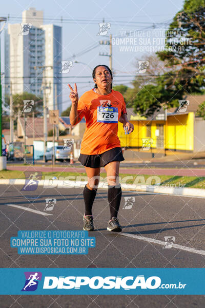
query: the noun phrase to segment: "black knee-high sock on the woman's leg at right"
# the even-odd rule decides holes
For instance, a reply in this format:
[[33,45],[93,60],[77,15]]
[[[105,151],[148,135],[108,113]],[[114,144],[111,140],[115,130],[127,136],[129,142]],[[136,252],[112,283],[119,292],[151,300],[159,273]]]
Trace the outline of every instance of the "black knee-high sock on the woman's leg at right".
[[117,217],[119,205],[121,201],[121,186],[110,186],[108,185],[108,202],[110,205],[110,219]]

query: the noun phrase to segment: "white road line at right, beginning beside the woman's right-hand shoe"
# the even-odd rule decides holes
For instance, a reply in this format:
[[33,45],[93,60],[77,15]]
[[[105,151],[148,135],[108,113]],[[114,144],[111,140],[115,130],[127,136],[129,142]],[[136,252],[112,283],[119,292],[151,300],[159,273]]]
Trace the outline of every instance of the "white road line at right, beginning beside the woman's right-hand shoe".
[[[121,233],[120,235],[128,236],[128,237],[131,237],[131,238],[134,238],[134,239],[137,239],[137,240],[151,242],[151,243],[155,243],[155,244],[159,244],[159,245],[163,245],[163,246],[165,245],[164,241],[159,241],[159,240],[147,238],[147,237],[140,236],[140,235],[134,235],[134,234],[129,234],[129,233]],[[174,244],[174,243],[172,244],[172,247],[187,251],[189,253],[194,253],[194,254],[199,254],[199,255],[205,256],[205,251],[198,250],[198,249],[195,249],[195,248],[182,246],[182,245],[178,245],[178,244]]]

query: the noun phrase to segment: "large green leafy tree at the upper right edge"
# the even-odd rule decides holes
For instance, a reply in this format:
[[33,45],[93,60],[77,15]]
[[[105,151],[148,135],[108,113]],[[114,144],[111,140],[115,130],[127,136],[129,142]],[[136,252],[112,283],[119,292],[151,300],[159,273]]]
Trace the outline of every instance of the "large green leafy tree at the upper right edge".
[[157,75],[141,87],[134,99],[134,110],[151,115],[165,108],[178,106],[178,100],[189,93],[204,91],[204,0],[187,0],[173,18],[166,33],[166,46],[157,52],[168,71]]

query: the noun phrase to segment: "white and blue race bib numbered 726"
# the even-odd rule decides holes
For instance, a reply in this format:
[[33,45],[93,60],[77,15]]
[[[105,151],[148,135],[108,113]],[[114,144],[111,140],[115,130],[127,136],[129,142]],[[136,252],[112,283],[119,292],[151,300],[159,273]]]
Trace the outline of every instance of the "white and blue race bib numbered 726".
[[97,107],[97,122],[118,123],[118,109],[116,107]]

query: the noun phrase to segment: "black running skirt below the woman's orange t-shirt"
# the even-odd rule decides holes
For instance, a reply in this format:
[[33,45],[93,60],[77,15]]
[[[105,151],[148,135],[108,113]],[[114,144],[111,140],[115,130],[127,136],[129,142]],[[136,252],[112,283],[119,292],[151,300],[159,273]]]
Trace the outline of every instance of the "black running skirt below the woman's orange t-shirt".
[[86,167],[90,168],[99,168],[105,167],[110,162],[114,161],[124,161],[125,158],[122,155],[122,150],[120,147],[113,148],[108,150],[104,153],[97,154],[97,155],[85,155],[80,154],[78,161]]

